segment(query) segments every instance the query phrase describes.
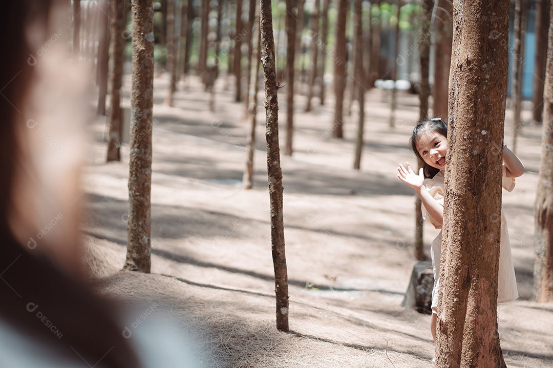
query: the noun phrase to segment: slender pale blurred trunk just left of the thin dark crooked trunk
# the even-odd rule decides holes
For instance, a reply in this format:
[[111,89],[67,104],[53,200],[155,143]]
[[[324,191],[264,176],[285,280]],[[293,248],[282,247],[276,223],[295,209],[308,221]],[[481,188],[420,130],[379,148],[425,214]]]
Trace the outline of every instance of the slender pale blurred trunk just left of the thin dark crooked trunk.
[[242,185],[244,189],[253,188],[253,156],[255,152],[255,126],[257,125],[257,94],[259,92],[259,65],[261,64],[261,58],[259,57],[261,41],[259,38],[259,2],[255,1],[253,4],[255,15],[253,19],[252,28],[252,65],[250,68],[249,77],[249,115],[248,115],[248,153],[246,161],[246,170],[244,170],[244,177],[242,179]]

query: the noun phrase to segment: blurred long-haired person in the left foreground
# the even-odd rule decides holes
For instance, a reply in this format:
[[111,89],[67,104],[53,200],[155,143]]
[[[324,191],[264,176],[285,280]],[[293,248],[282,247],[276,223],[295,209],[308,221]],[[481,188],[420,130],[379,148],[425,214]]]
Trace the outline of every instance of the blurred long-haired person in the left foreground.
[[68,4],[8,1],[0,12],[0,367],[197,366],[165,325],[130,338],[123,314],[84,281],[80,168],[92,84],[67,55]]

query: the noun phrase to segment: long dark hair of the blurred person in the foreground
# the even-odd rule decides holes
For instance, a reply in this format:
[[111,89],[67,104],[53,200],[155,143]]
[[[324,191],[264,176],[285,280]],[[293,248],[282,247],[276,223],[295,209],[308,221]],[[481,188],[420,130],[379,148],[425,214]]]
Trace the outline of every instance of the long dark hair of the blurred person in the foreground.
[[7,35],[0,39],[0,49],[7,55],[0,69],[0,320],[75,366],[83,365],[82,360],[90,365],[101,360],[105,367],[141,367],[122,335],[111,302],[93,294],[91,287],[65,274],[44,255],[31,254],[8,225],[15,169],[24,164],[15,125],[35,76],[28,59],[36,50],[25,30],[31,22],[48,24],[59,4],[63,3],[8,1],[0,12],[0,34]]

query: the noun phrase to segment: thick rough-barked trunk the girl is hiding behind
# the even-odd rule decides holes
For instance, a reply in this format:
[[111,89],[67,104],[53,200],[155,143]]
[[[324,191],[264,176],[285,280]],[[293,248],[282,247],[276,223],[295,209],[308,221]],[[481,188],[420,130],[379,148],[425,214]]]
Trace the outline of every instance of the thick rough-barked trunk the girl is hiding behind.
[[455,2],[453,22],[436,366],[506,367],[497,332],[497,219],[509,2]]

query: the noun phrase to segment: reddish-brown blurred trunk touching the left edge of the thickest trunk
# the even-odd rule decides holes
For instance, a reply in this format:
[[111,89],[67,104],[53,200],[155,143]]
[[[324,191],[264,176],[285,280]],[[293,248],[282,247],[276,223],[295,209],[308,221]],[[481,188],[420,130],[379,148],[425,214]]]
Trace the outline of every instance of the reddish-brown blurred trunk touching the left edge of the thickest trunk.
[[449,95],[449,70],[451,66],[451,41],[453,23],[451,22],[452,3],[450,0],[438,0],[435,19],[435,63],[434,63],[434,98],[432,114],[434,118],[447,121],[447,98]]

